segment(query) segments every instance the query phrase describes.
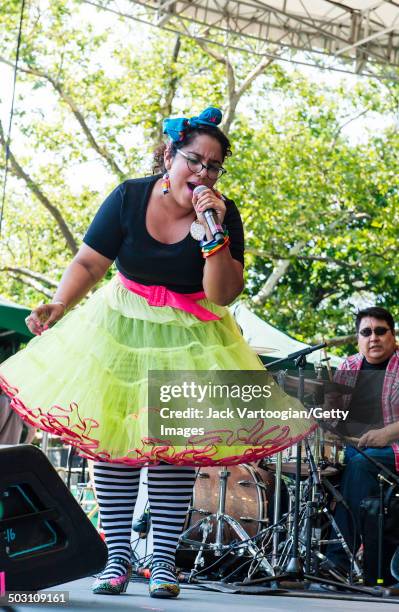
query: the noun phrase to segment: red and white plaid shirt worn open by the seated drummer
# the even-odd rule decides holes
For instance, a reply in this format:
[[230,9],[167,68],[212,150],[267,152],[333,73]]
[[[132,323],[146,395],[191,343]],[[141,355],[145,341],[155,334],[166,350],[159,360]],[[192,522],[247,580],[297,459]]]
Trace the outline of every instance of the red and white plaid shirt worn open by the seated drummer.
[[[340,384],[355,387],[364,356],[361,353],[351,355],[335,372],[334,380]],[[351,401],[350,395],[344,396],[344,407]],[[392,355],[385,371],[384,384],[381,396],[381,409],[384,425],[391,425],[399,421],[399,350]],[[395,454],[395,468],[399,473],[399,444],[391,444]]]

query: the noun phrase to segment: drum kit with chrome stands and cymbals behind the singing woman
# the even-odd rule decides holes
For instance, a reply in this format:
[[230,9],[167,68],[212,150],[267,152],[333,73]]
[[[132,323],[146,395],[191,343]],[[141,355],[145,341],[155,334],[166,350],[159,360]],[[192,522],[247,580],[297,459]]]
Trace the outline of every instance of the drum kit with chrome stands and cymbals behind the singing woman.
[[[307,350],[312,348],[320,345]],[[276,379],[305,407],[323,405],[326,393],[346,395],[353,391],[331,379],[323,380],[320,369],[316,379],[305,378],[302,352],[289,357],[295,357],[299,376],[279,372]],[[343,438],[330,433],[328,423],[320,425],[303,445],[298,443],[258,463],[198,469],[176,554],[180,579],[262,583],[275,590],[285,581],[295,581],[299,588],[316,582],[364,594],[358,558],[334,520],[337,502],[345,504],[339,491]],[[357,441],[346,438],[344,442],[356,446]],[[143,517],[133,529],[145,539],[150,514]],[[342,547],[349,572],[328,559],[329,544]],[[138,573],[148,566],[147,548],[143,559],[140,566],[135,558]]]

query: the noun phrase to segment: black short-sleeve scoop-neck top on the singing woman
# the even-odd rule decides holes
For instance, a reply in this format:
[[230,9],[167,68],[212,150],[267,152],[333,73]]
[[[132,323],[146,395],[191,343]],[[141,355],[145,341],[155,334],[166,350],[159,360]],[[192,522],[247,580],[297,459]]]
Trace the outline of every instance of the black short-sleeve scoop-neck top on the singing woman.
[[[199,242],[188,233],[183,240],[164,244],[147,231],[146,212],[160,175],[130,179],[116,187],[95,215],[83,241],[114,259],[117,269],[143,285],[163,285],[178,293],[202,291],[204,259]],[[244,264],[244,232],[240,213],[226,198],[224,225],[230,252]]]

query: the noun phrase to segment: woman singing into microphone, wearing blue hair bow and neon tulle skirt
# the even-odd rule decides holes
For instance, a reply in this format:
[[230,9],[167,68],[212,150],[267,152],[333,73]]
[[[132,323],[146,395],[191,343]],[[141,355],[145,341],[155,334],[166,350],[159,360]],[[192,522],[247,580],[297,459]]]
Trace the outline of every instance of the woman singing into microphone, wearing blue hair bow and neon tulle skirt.
[[[163,175],[126,180],[107,197],[53,301],[27,318],[38,337],[0,367],[1,387],[22,418],[95,461],[109,551],[95,593],[119,594],[128,585],[142,466],[149,466],[154,532],[150,595],[175,597],[174,558],[193,466],[255,460],[311,427],[268,423],[267,445],[206,447],[202,455],[196,449],[196,461],[190,447],[146,437],[149,370],[263,369],[226,308],[243,289],[244,238],[234,202],[215,190],[231,153],[220,121],[210,107],[164,122],[169,140],[155,154]],[[198,185],[204,188],[193,194]],[[208,208],[223,226],[218,240],[203,217]],[[114,261],[118,273],[73,309]],[[277,393],[280,408],[288,400]]]

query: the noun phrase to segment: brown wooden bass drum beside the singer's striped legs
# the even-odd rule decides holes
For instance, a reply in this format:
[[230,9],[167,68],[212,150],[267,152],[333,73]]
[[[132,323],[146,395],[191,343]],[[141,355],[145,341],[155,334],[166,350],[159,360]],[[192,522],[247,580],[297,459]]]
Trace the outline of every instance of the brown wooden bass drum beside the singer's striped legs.
[[[219,488],[221,467],[200,468],[194,485],[193,503],[186,520],[185,530],[188,540],[202,541],[200,525],[192,527],[205,519],[209,514],[216,514],[219,507]],[[225,514],[234,518],[245,529],[248,537],[255,536],[268,523],[268,487],[263,482],[259,471],[251,464],[229,466],[227,468],[226,506]],[[212,531],[208,535],[207,543],[215,542],[216,520],[211,519]],[[234,529],[224,523],[222,543],[229,544],[237,540]],[[185,534],[182,543],[185,543]]]

